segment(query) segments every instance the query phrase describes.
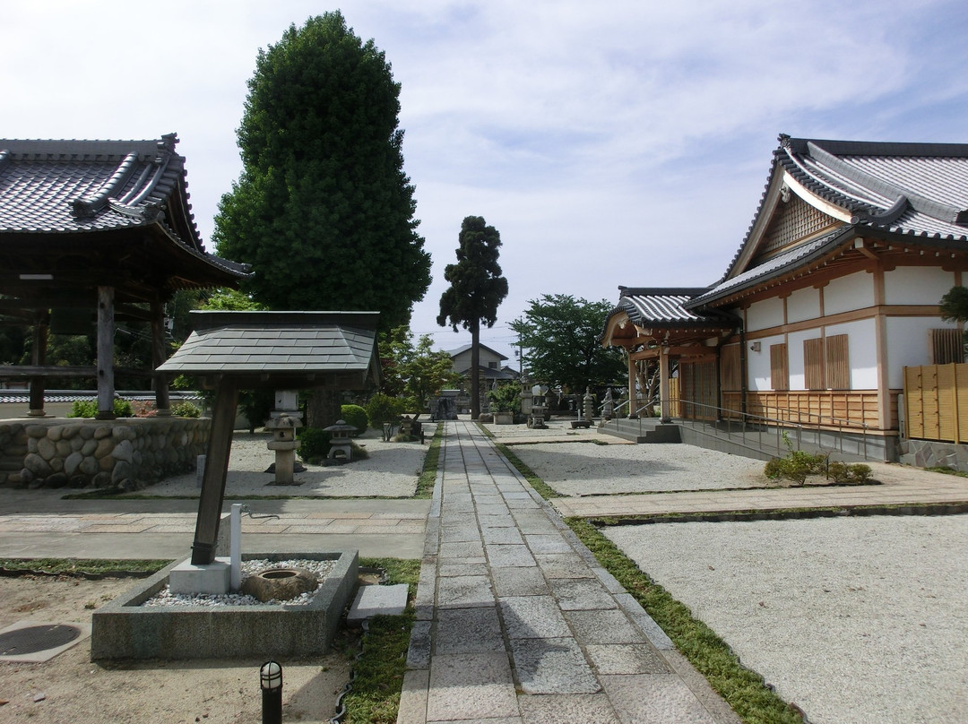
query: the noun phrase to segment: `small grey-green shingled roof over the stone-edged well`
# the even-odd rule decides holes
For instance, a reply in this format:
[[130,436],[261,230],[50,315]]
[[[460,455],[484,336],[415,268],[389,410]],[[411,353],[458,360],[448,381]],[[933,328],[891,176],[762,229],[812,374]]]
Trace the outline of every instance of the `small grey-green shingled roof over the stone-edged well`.
[[377,312],[193,312],[195,331],[160,372],[242,387],[359,388],[379,379]]

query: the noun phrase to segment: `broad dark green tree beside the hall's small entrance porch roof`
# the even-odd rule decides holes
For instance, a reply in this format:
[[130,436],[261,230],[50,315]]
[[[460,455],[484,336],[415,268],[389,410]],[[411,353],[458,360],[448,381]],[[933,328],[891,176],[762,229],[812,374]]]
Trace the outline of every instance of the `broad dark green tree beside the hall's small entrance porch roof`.
[[530,300],[524,317],[511,322],[524,347],[531,377],[581,394],[586,387],[613,384],[625,374],[620,349],[598,341],[613,305],[570,294]]

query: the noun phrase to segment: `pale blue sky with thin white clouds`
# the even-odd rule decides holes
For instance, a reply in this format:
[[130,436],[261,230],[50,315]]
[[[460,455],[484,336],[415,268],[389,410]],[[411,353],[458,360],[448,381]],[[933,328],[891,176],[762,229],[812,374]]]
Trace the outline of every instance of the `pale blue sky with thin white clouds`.
[[241,171],[259,48],[340,10],[385,52],[440,327],[467,216],[501,236],[509,293],[481,342],[543,294],[706,287],[753,220],[777,136],[968,142],[968,3],[772,0],[5,0],[0,137],[176,132],[198,229]]

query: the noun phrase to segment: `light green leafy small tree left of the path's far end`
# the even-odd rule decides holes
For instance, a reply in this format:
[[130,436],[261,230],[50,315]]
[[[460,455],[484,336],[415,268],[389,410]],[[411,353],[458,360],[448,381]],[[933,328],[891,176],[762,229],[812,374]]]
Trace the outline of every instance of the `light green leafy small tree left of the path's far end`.
[[461,383],[463,377],[454,372],[450,355],[434,350],[429,334],[421,335],[416,346],[407,327],[393,329],[385,338],[383,359],[384,392],[394,390],[406,402],[408,411],[416,416],[440,390]]

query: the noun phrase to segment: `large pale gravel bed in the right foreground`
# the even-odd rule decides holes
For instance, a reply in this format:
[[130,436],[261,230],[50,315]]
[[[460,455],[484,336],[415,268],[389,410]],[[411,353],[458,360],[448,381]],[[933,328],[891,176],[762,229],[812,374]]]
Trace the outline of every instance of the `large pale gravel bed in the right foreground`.
[[813,724],[968,721],[968,516],[603,532]]

